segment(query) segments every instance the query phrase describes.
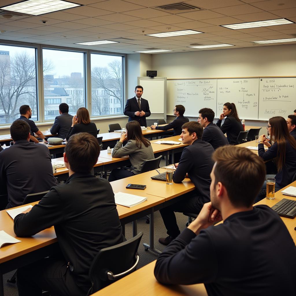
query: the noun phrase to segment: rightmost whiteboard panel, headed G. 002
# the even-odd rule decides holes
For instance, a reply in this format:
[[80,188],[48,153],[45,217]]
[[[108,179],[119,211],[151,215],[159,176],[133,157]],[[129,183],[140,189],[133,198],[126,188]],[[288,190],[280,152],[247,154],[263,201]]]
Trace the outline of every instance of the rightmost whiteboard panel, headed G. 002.
[[259,119],[286,118],[296,109],[296,78],[260,78]]

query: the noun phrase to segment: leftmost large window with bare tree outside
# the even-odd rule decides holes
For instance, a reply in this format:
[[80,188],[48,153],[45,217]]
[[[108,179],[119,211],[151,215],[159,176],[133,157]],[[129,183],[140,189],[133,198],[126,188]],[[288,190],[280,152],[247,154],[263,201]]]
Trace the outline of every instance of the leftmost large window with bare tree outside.
[[38,120],[35,48],[0,45],[0,83],[0,123],[19,118],[21,105]]

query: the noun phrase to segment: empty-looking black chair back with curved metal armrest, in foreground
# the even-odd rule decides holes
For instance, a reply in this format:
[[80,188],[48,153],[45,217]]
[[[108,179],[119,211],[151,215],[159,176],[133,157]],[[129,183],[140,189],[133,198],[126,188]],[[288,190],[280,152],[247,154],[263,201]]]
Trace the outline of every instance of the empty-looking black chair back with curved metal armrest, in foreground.
[[139,262],[137,251],[142,235],[143,232],[140,232],[126,242],[99,251],[89,270],[91,288],[88,295],[136,270]]

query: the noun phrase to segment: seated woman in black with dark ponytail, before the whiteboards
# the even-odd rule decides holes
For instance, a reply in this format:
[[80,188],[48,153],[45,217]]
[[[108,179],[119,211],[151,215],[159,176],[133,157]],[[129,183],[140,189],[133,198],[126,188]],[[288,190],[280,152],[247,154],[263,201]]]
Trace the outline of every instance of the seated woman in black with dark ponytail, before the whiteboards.
[[[225,118],[225,120],[221,126],[223,118]],[[223,113],[221,113],[217,121],[217,126],[223,133],[226,133],[229,144],[237,144],[237,136],[240,131],[244,131],[244,127],[239,119],[234,103],[227,102],[223,105]]]

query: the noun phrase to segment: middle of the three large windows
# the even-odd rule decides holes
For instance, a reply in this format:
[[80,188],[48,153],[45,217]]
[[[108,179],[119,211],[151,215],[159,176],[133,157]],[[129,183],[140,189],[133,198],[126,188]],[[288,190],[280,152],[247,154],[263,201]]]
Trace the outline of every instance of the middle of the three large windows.
[[84,53],[43,49],[42,54],[45,120],[56,116],[47,112],[57,109],[51,104],[67,103],[75,113],[85,107]]

